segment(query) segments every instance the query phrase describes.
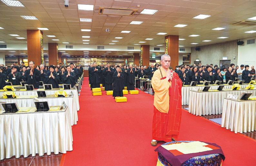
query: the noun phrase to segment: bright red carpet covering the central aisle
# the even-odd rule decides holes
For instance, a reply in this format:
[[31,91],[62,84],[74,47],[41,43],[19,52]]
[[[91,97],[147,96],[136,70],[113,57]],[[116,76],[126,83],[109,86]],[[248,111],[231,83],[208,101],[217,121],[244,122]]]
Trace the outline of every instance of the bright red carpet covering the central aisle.
[[[155,166],[156,147],[150,144],[153,96],[139,91],[139,95],[124,95],[126,103],[116,103],[105,91],[102,94],[92,96],[88,78],[84,78],[78,123],[72,128],[73,151],[66,153],[64,165]],[[255,141],[185,110],[178,140],[220,145],[226,157],[222,166],[256,163]]]

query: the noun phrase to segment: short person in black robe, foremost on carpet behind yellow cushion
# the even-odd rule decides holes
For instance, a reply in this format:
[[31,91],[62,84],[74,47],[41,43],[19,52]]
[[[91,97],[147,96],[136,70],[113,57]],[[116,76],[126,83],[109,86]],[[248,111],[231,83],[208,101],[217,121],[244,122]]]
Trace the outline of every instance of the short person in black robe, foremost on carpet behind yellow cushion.
[[120,71],[120,67],[116,67],[116,71],[113,74],[113,97],[123,97],[123,73]]

